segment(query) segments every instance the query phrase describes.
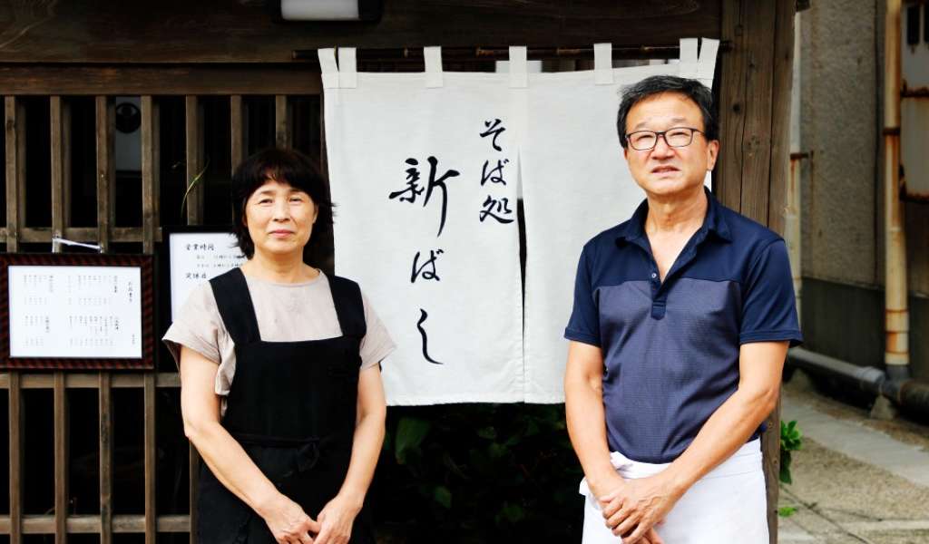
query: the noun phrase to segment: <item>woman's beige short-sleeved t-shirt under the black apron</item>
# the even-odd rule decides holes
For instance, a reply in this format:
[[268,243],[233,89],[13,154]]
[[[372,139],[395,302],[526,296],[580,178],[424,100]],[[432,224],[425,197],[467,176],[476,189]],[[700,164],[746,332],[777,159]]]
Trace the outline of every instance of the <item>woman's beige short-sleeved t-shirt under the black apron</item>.
[[[275,283],[249,276],[245,276],[245,281],[255,306],[258,333],[262,340],[301,342],[342,335],[329,278],[322,272],[317,278],[304,283]],[[367,369],[388,356],[396,346],[363,293],[361,301],[367,330],[359,351],[361,369]],[[190,293],[163,340],[178,365],[181,344],[217,363],[216,395],[229,395],[229,386],[235,376],[235,343],[219,316],[209,282],[204,282]]]

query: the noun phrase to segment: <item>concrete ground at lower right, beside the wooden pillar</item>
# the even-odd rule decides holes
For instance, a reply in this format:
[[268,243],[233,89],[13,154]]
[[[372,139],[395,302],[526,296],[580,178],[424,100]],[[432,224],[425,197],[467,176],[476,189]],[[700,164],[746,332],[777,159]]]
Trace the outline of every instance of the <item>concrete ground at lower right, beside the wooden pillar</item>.
[[781,544],[929,544],[929,427],[876,421],[867,410],[785,384],[781,419],[796,420],[803,449],[780,486]]

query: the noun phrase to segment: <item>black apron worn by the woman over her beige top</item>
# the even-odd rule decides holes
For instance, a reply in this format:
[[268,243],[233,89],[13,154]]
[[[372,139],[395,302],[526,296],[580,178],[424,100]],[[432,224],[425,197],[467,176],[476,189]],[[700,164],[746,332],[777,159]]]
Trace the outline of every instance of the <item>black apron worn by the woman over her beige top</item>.
[[[262,473],[317,519],[345,480],[355,431],[359,346],[365,333],[361,291],[330,278],[342,336],[305,342],[264,342],[242,270],[210,284],[235,343],[235,379],[222,424]],[[197,503],[202,544],[273,543],[264,519],[216,480],[202,463]],[[373,543],[366,509],[352,543]]]

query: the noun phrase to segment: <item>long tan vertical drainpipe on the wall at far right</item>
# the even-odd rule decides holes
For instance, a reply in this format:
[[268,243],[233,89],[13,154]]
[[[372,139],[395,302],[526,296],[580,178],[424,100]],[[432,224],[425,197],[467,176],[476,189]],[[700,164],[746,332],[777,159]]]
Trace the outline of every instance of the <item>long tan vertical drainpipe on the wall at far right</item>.
[[883,45],[884,364],[888,378],[905,380],[909,378],[909,312],[900,201],[900,0],[887,0]]

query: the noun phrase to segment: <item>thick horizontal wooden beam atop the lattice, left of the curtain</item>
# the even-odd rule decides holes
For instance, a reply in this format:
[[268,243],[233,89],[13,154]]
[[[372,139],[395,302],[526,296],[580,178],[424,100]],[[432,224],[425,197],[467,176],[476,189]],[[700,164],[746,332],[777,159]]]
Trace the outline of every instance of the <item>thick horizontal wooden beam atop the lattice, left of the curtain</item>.
[[[288,50],[288,54],[290,51]],[[319,95],[319,71],[281,66],[0,66],[0,95]]]

